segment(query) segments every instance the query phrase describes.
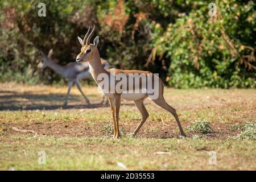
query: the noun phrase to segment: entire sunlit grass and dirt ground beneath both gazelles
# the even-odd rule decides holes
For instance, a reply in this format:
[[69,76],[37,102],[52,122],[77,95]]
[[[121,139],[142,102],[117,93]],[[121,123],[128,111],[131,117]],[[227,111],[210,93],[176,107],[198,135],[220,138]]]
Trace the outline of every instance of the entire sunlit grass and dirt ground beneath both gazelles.
[[[165,89],[187,138],[179,137],[174,117],[149,100],[150,117],[130,137],[141,115],[132,102],[122,102],[122,138],[113,139],[110,109],[98,105],[101,94],[93,86],[83,86],[90,107],[75,87],[66,107],[63,86],[5,83],[0,88],[2,170],[123,170],[118,163],[131,170],[256,169],[255,89]],[[38,164],[40,151],[46,153],[44,165]],[[209,163],[211,151],[217,154],[215,165]]]

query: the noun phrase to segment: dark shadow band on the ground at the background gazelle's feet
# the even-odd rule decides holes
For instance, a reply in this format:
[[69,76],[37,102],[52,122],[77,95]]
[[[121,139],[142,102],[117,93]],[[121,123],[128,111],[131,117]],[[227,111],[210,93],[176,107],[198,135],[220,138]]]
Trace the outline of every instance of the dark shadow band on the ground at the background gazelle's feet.
[[[69,96],[68,105],[64,106],[65,94],[20,94],[16,92],[0,91],[0,110],[55,110],[55,109],[85,109],[108,107],[101,104],[101,100],[86,105],[80,96]],[[89,96],[90,97],[90,96]]]

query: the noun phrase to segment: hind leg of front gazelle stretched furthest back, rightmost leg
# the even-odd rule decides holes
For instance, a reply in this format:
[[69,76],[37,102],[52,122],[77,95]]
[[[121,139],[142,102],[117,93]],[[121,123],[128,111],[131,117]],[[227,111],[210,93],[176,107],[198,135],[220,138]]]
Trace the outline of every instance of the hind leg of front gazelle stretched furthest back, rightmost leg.
[[159,98],[156,99],[156,100],[152,100],[155,102],[155,104],[159,105],[160,107],[162,107],[163,109],[169,111],[172,115],[174,115],[174,118],[176,119],[176,122],[177,122],[177,125],[179,126],[179,129],[180,129],[180,134],[184,137],[186,137],[183,129],[182,129],[182,126],[180,124],[180,120],[179,120],[179,117],[176,113],[176,109],[174,109],[174,107],[171,107],[170,105],[167,104],[167,102],[164,100],[164,97],[163,96],[160,96],[159,95]]

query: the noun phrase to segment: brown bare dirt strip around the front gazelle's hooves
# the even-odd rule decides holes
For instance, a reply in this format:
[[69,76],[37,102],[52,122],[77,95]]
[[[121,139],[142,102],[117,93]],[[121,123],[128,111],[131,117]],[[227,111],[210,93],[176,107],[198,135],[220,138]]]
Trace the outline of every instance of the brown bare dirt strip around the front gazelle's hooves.
[[[135,122],[129,122],[121,126],[121,130],[125,134],[132,133],[135,127],[138,125],[139,120]],[[109,131],[104,131],[102,127],[108,125],[109,123],[99,122],[94,125],[86,125],[84,122],[75,121],[71,123],[67,122],[48,122],[48,123],[2,123],[2,127],[6,128],[3,135],[17,135],[19,132],[15,131],[13,127],[21,130],[31,130],[35,131],[38,136],[54,136],[54,137],[112,137],[112,133]],[[185,123],[183,127],[190,125],[191,123]],[[154,131],[154,129],[158,129]],[[176,129],[176,133],[173,130]],[[229,137],[234,137],[240,132],[238,130],[231,131],[230,124],[221,123],[220,125],[212,125],[213,132],[205,134],[207,139],[227,139]],[[102,131],[102,132],[101,132]],[[28,133],[22,133],[27,135]],[[187,137],[193,137],[195,134],[186,132]],[[33,133],[31,133],[33,135]],[[136,138],[177,138],[179,137],[179,132],[177,130],[176,123],[170,123],[169,125],[163,125],[162,122],[150,122],[145,124],[144,129],[141,129],[136,135]]]

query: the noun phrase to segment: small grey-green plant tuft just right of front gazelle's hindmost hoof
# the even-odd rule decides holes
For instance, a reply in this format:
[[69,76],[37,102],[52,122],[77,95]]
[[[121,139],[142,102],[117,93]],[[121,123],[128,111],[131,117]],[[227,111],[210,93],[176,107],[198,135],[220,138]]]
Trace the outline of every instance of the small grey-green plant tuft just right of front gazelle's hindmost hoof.
[[187,127],[188,131],[191,132],[201,132],[207,134],[212,132],[212,127],[210,127],[210,122],[207,120],[195,120],[193,125]]

